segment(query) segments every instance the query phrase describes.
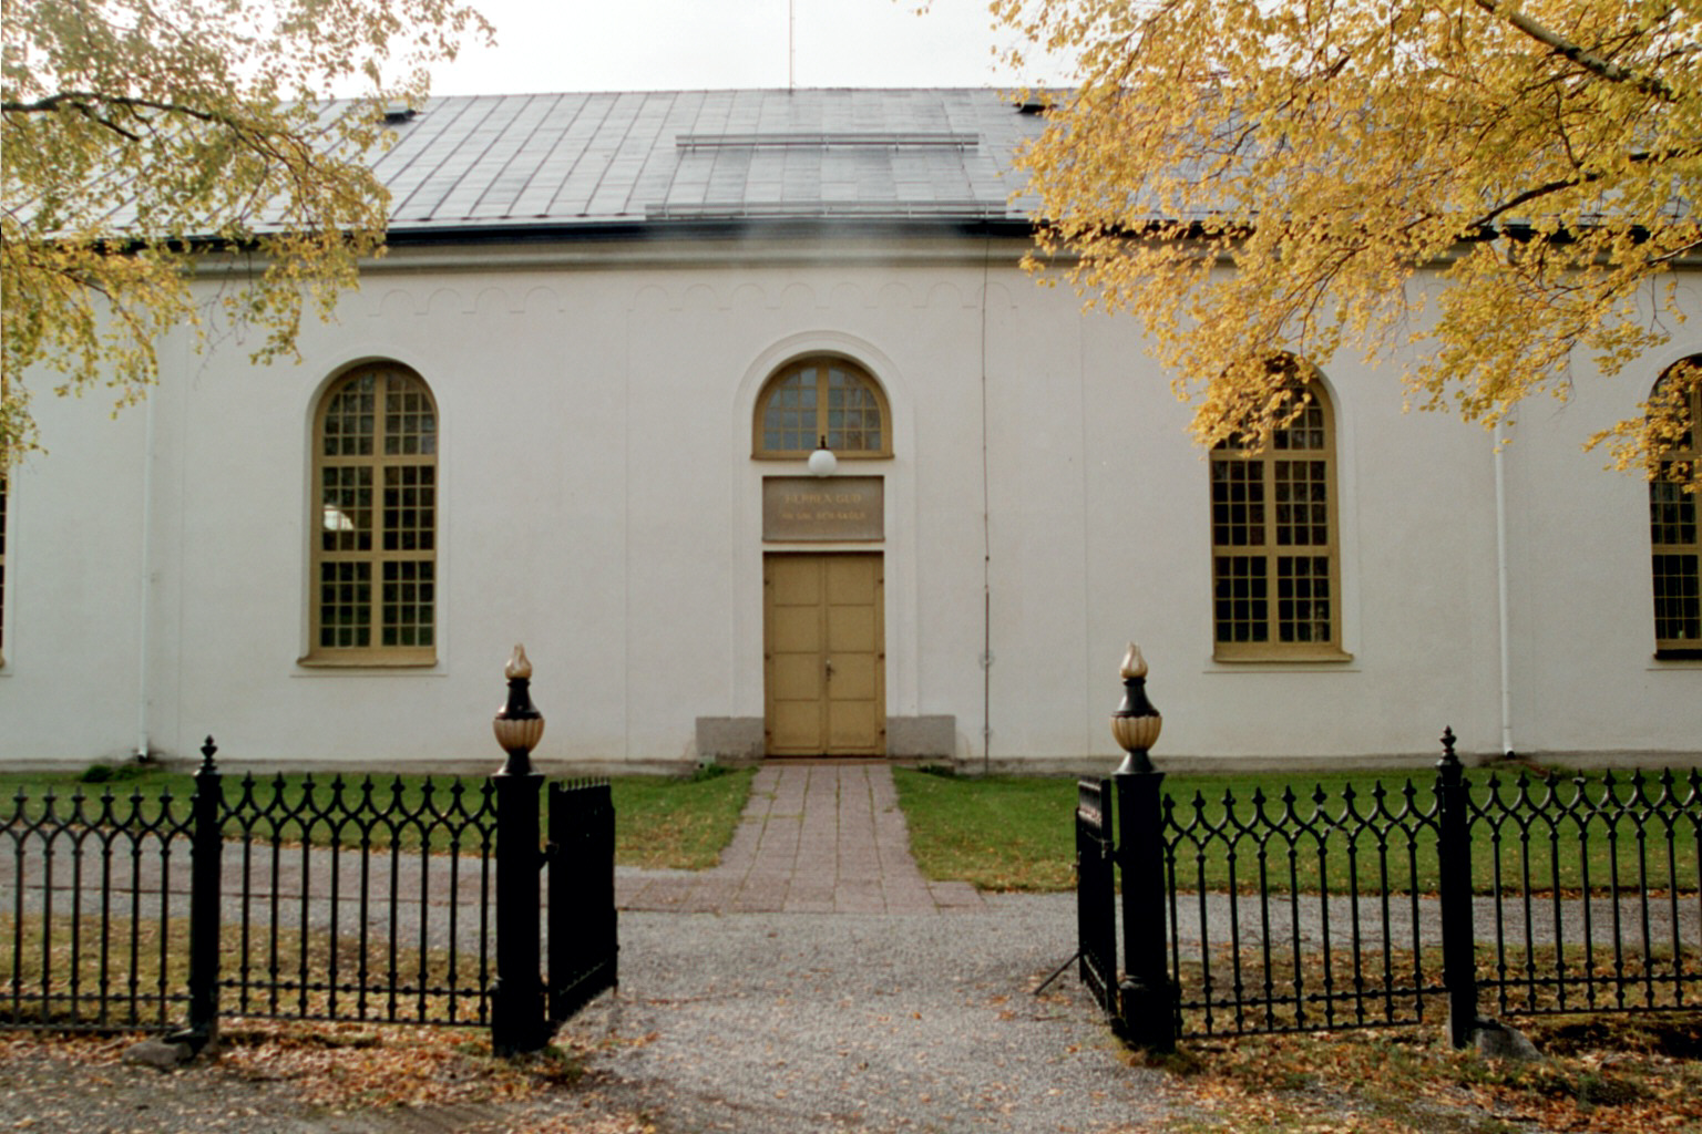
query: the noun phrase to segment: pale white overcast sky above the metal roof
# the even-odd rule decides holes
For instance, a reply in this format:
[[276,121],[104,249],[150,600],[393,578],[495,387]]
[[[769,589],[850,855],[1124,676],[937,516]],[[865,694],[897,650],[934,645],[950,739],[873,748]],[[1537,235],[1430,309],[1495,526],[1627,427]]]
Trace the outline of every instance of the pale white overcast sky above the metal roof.
[[[985,0],[471,0],[497,46],[432,71],[432,94],[727,87],[1018,87]],[[788,48],[788,14],[793,34]]]

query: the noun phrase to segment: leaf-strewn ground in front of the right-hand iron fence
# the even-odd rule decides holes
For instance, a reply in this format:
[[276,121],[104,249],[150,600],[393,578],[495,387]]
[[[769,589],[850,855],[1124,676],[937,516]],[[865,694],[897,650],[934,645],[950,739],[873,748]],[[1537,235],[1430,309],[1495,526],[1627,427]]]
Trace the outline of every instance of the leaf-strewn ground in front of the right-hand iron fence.
[[1702,1132],[1702,1013],[1518,1027],[1542,1059],[1454,1051],[1430,1027],[1249,1035],[1130,1061],[1168,1073],[1178,1134]]

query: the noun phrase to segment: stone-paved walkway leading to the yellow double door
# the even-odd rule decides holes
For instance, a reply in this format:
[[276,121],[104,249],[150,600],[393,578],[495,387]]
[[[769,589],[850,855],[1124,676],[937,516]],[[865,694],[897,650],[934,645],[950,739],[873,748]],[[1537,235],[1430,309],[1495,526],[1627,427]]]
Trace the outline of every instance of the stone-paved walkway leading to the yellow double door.
[[929,882],[911,857],[892,767],[766,763],[722,864],[621,869],[621,910],[674,913],[950,913],[982,910],[968,882]]

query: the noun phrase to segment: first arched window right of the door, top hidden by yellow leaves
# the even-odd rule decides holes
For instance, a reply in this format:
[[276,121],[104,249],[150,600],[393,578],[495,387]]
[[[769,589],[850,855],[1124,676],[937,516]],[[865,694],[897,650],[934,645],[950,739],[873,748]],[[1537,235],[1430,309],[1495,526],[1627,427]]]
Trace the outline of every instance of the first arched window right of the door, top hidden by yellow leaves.
[[1222,661],[1339,660],[1336,428],[1292,362],[1299,417],[1212,451],[1212,622]]

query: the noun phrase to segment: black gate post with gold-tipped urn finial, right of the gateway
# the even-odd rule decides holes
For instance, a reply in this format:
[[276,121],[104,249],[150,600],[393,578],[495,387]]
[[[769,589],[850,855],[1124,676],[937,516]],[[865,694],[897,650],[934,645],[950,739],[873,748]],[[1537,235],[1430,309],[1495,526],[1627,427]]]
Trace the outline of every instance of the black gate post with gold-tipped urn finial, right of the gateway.
[[1111,714],[1111,734],[1128,753],[1117,768],[1117,809],[1123,838],[1123,1039],[1152,1051],[1176,1047],[1176,996],[1164,944],[1164,830],[1159,789],[1164,774],[1147,750],[1164,717],[1147,700],[1147,661],[1128,643],[1123,656],[1123,704]]

